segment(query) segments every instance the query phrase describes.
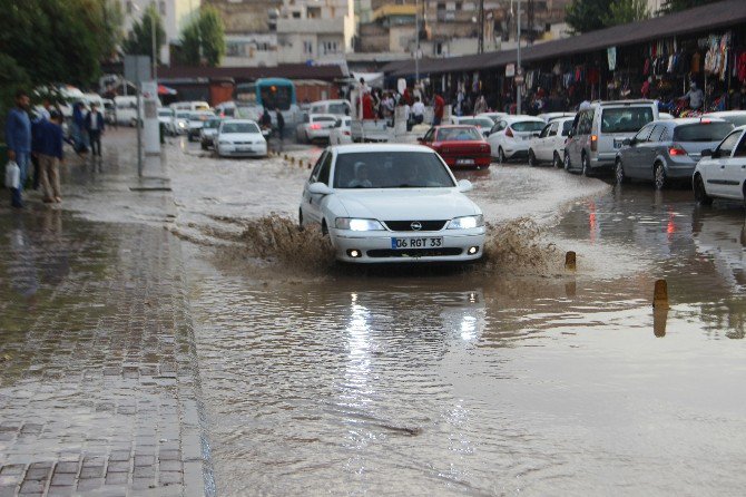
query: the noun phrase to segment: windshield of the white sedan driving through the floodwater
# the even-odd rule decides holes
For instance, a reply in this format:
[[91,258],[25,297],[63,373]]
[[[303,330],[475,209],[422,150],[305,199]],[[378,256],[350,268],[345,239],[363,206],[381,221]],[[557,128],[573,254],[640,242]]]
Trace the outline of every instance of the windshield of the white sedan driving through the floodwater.
[[335,188],[450,188],[455,186],[438,155],[428,152],[340,154]]

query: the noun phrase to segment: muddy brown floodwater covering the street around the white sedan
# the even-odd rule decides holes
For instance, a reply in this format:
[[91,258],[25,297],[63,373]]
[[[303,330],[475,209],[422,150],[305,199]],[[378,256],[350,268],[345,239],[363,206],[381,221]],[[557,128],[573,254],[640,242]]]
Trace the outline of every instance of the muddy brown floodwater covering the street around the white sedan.
[[743,495],[743,207],[493,166],[488,262],[361,271],[283,236],[307,170],[200,155],[171,231],[219,495]]

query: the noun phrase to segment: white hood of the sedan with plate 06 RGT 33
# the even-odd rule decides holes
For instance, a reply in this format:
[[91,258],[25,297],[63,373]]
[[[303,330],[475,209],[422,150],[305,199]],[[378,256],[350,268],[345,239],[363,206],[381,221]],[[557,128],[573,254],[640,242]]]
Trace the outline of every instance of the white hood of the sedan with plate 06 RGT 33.
[[455,188],[337,189],[336,193],[337,201],[350,217],[426,221],[481,213]]

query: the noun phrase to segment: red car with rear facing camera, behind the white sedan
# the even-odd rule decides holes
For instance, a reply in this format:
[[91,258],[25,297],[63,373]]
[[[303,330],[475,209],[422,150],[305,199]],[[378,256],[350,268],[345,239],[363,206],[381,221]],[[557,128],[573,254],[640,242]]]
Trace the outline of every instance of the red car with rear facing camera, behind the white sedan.
[[474,126],[435,126],[419,140],[443,157],[449,167],[490,167],[490,144]]

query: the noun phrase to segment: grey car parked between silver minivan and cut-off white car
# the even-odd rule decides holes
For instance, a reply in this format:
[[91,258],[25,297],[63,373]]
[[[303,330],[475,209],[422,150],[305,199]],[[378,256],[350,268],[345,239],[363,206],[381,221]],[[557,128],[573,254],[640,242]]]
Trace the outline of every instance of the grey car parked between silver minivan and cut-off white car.
[[617,183],[646,179],[660,189],[673,179],[691,179],[701,150],[715,148],[732,130],[723,119],[655,120],[624,140],[615,165]]

